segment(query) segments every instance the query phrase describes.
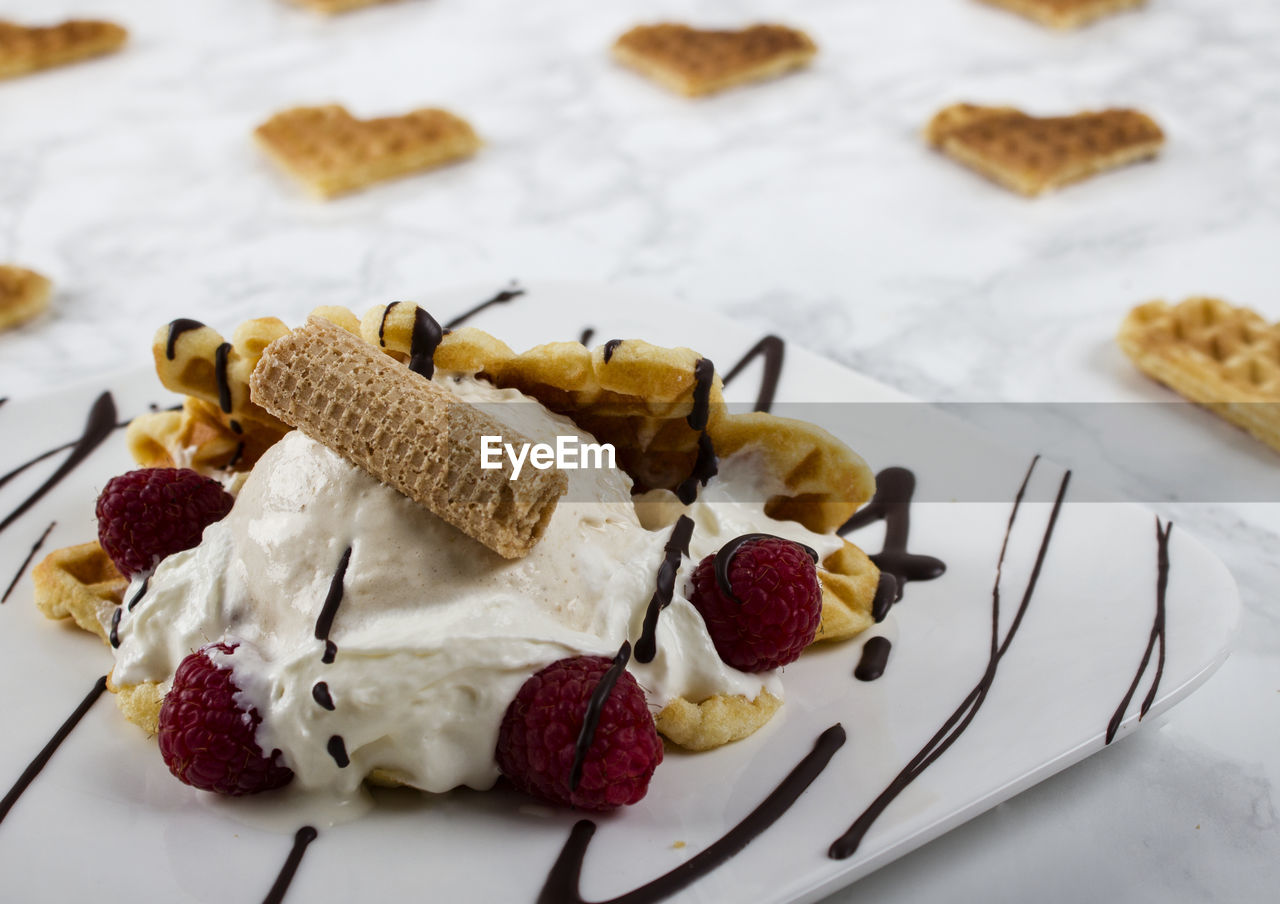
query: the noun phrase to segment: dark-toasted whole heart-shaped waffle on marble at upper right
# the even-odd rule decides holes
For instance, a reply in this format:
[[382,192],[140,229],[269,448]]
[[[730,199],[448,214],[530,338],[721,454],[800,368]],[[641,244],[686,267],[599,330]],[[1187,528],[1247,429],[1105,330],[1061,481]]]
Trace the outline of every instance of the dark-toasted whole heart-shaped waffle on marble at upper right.
[[1009,106],[973,104],[940,111],[925,138],[966,166],[1028,196],[1153,157],[1165,143],[1155,120],[1137,110],[1042,118]]

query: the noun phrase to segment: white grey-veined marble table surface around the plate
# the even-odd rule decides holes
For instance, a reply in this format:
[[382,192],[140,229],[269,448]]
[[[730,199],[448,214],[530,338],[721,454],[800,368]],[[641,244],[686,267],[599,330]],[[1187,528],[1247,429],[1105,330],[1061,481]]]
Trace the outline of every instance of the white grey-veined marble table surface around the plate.
[[[708,24],[785,18],[822,52],[696,102],[611,64],[626,27],[695,6]],[[512,277],[645,289],[923,400],[1028,403],[1033,419],[1044,402],[1171,398],[1111,341],[1135,302],[1208,293],[1280,318],[1274,0],[1152,0],[1074,33],[974,0],[404,0],[334,19],[278,0],[6,0],[3,14],[110,17],[133,37],[115,58],[0,83],[0,260],[58,284],[50,314],[0,335],[0,394],[136,366],[180,315],[227,330]],[[923,146],[924,120],[957,100],[1138,106],[1169,143],[1027,201]],[[329,101],[448,106],[486,147],[319,204],[248,134]],[[1280,464],[1198,410],[1151,442],[1199,443],[1204,471]],[[1233,657],[1157,725],[832,901],[1274,894],[1280,497],[1162,485],[1140,444],[1110,465],[1233,570]]]

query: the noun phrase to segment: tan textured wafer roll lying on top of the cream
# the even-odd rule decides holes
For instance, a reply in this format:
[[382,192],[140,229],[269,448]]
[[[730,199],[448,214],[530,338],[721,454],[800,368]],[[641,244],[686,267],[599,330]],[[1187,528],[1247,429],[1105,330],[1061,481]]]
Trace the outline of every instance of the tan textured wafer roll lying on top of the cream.
[[255,402],[507,558],[541,538],[563,472],[480,467],[480,437],[529,442],[378,348],[311,318],[262,352]]

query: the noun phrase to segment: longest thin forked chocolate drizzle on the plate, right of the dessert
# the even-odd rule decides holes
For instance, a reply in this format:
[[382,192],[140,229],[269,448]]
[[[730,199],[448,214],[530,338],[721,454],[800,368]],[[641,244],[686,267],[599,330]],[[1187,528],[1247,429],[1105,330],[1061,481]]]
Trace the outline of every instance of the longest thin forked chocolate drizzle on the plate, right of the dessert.
[[1032,569],[1030,576],[1027,579],[1027,589],[1023,593],[1021,603],[1014,615],[1012,622],[1009,625],[1009,630],[1005,634],[1004,640],[1000,639],[1000,581],[1004,575],[1005,567],[1005,553],[1009,551],[1009,539],[1014,531],[1014,522],[1018,519],[1018,511],[1021,508],[1023,497],[1027,493],[1027,487],[1030,483],[1032,472],[1036,470],[1036,464],[1039,461],[1039,456],[1032,460],[1030,467],[1027,469],[1027,476],[1023,478],[1023,484],[1018,489],[1018,496],[1014,497],[1014,507],[1009,515],[1009,525],[1005,528],[1005,540],[1000,547],[1000,558],[996,561],[996,580],[991,592],[991,650],[987,658],[987,668],[978,684],[974,685],[973,690],[969,691],[968,697],[960,703],[955,712],[947,717],[947,721],[942,723],[937,734],[933,735],[920,748],[911,761],[902,768],[901,772],[890,782],[872,804],[863,811],[854,823],[849,827],[844,835],[836,839],[831,849],[827,852],[832,859],[842,860],[852,857],[861,844],[863,837],[867,831],[876,823],[881,813],[883,813],[897,795],[901,794],[913,781],[915,781],[929,766],[934,763],[943,753],[946,753],[956,739],[964,734],[965,729],[973,721],[974,716],[982,708],[982,704],[987,699],[987,694],[991,691],[992,685],[996,681],[996,670],[1000,666],[1000,661],[1004,658],[1005,653],[1009,650],[1009,645],[1014,642],[1014,636],[1018,634],[1018,629],[1023,624],[1023,616],[1027,613],[1028,606],[1030,606],[1032,595],[1036,593],[1036,584],[1039,581],[1041,569],[1044,565],[1044,556],[1048,553],[1050,542],[1053,539],[1053,528],[1057,525],[1059,512],[1062,510],[1062,499],[1066,497],[1066,487],[1071,480],[1071,472],[1068,471],[1062,475],[1062,481],[1057,489],[1057,498],[1053,501],[1053,510],[1050,513],[1048,524],[1044,528],[1043,538],[1041,539],[1039,552],[1036,554],[1036,565]]

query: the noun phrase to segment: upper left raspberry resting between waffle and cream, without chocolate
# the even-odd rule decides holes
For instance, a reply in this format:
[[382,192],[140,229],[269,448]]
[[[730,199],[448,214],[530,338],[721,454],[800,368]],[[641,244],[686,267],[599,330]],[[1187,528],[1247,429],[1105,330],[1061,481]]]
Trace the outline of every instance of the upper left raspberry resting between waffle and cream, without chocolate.
[[97,542],[125,577],[191,549],[234,499],[186,467],[142,467],[111,478],[97,497]]

